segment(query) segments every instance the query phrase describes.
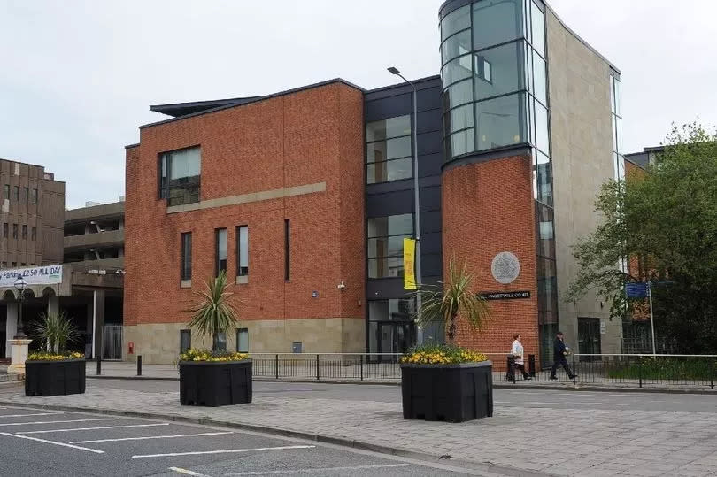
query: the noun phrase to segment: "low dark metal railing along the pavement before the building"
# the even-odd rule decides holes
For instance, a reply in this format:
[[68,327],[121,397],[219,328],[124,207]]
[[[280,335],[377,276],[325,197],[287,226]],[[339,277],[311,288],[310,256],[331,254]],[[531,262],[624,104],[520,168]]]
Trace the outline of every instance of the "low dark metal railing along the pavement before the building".
[[[490,353],[494,382],[520,382],[522,376],[504,353]],[[401,379],[400,354],[380,353],[251,353],[254,376],[276,380],[387,381]],[[717,355],[574,354],[567,357],[575,374],[562,367],[558,382],[624,387],[690,387],[714,389]],[[551,380],[551,369],[525,360],[530,381]]]

